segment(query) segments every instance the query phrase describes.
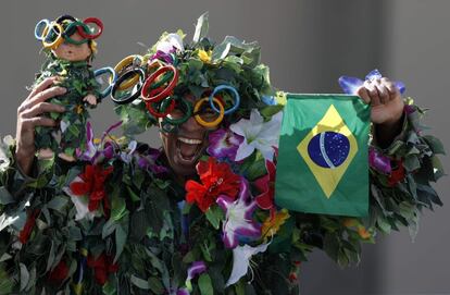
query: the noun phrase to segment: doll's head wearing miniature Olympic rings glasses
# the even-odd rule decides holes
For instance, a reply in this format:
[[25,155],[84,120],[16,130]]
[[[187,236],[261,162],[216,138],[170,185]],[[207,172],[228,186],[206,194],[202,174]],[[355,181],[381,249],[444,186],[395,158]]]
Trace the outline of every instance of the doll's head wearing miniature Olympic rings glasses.
[[[88,26],[90,23],[98,27],[98,33],[92,33]],[[98,19],[89,17],[82,22],[71,15],[62,15],[51,23],[42,20],[35,28],[36,38],[52,57],[71,62],[92,59],[97,51],[93,39],[101,33],[102,24]]]

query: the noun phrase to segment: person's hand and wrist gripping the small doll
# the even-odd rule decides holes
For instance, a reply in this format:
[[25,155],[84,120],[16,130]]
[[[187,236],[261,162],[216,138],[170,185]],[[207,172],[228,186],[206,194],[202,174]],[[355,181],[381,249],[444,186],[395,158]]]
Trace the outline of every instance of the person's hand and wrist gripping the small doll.
[[54,86],[57,77],[49,77],[37,85],[28,97],[17,108],[17,127],[15,138],[17,140],[15,155],[17,164],[29,174],[35,157],[35,127],[53,127],[57,122],[43,116],[47,112],[64,112],[64,107],[46,102],[46,100],[65,94],[66,89]]

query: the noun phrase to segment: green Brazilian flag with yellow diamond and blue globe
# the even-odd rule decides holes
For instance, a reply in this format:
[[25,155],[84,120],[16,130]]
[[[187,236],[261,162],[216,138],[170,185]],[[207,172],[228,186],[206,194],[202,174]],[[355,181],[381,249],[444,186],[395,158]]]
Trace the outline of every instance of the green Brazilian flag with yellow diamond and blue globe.
[[365,217],[370,107],[348,95],[287,95],[276,205],[300,212]]

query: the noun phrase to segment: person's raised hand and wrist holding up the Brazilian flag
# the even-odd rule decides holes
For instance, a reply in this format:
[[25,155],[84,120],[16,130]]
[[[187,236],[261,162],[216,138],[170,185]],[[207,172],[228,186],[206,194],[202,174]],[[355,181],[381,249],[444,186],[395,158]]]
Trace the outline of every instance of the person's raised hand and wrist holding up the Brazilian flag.
[[389,146],[401,132],[404,102],[399,89],[388,78],[365,81],[358,91],[366,103],[371,103],[371,121],[375,126],[376,142],[380,147]]

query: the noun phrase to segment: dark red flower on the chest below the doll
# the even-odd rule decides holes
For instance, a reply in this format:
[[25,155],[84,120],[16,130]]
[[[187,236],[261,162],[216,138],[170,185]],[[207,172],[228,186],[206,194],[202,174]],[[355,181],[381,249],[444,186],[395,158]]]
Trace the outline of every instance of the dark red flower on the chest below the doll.
[[83,182],[71,183],[71,190],[76,196],[89,195],[89,211],[95,211],[103,201],[103,210],[108,216],[110,205],[107,193],[104,192],[104,181],[113,172],[113,167],[103,169],[101,165],[87,165],[85,173],[79,177]]

